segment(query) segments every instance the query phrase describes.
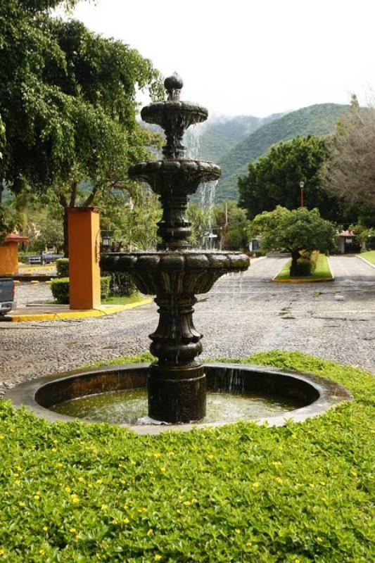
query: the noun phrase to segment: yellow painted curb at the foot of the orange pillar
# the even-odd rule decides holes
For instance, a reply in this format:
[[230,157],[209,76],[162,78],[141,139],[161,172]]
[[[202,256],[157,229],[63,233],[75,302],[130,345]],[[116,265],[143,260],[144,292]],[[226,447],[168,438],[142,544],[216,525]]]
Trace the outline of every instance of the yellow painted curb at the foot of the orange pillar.
[[105,315],[114,315],[116,312],[127,311],[152,303],[153,299],[148,297],[137,301],[136,303],[129,303],[128,305],[101,305],[100,308],[79,311],[62,311],[62,312],[45,312],[33,313],[30,315],[7,315],[7,319],[11,322],[25,322],[25,321],[58,321],[65,319],[87,319],[90,317],[103,317]]

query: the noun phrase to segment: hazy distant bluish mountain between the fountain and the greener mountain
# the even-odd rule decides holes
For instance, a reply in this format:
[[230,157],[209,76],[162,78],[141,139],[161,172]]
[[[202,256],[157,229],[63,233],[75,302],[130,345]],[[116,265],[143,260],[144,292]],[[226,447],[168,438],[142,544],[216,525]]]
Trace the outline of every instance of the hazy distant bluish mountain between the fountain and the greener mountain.
[[198,126],[199,158],[217,162],[259,127],[279,117],[281,114],[269,115],[267,118],[255,118],[253,115],[209,118]]

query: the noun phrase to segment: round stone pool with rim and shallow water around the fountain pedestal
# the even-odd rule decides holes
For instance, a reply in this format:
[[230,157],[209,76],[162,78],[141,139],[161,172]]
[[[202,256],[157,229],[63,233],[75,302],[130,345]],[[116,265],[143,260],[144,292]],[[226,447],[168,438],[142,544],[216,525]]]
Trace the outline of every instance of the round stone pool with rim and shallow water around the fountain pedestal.
[[[82,422],[112,422],[138,434],[159,434],[168,429],[186,431],[255,419],[260,424],[282,426],[287,419],[303,422],[352,400],[343,386],[312,374],[210,363],[204,365],[207,417],[193,424],[160,424],[145,417],[148,369],[146,364],[133,364],[55,374],[21,384],[8,391],[5,398],[17,407],[27,405],[51,422],[70,422],[81,413]],[[88,410],[87,403],[91,403]],[[70,412],[71,416],[53,409]],[[100,415],[101,411],[107,414]]]

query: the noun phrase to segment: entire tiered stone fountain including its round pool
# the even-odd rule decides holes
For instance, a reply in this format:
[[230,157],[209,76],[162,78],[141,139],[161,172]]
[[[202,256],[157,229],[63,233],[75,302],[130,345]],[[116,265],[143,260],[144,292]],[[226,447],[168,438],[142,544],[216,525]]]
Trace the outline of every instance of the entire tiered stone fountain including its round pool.
[[[6,398],[15,405],[27,405],[49,420],[69,421],[72,417],[106,420],[125,424],[140,434],[156,434],[170,427],[155,425],[155,421],[179,423],[174,427],[182,430],[190,429],[190,422],[202,419],[202,424],[210,426],[239,419],[258,419],[272,426],[285,424],[285,419],[302,422],[342,400],[350,400],[345,388],[311,374],[243,364],[203,366],[198,360],[202,335],[193,325],[196,294],[210,291],[215,281],[227,272],[246,270],[249,260],[241,253],[189,248],[190,225],[184,218],[188,196],[201,182],[219,178],[220,168],[184,158],[184,131],[189,125],[207,119],[208,112],[196,104],[179,100],[182,80],[177,75],[167,78],[165,87],[167,101],[151,103],[141,112],[146,122],[161,125],[165,130],[164,158],[139,163],[129,171],[132,178],[148,182],[160,197],[163,217],[158,223],[158,234],[161,241],[155,252],[111,253],[101,261],[105,270],[128,272],[142,293],[156,296],[160,318],[150,338],[151,352],[158,361],[151,366],[103,366],[32,379],[8,391]],[[211,393],[210,400],[214,396],[214,402],[220,406],[219,412],[216,411],[218,416],[211,411],[204,419],[206,386]],[[152,424],[149,419],[143,420],[142,393],[146,388]],[[141,403],[136,403],[132,410],[129,393],[132,396],[138,391],[142,395]],[[114,406],[117,393],[125,407],[125,411],[120,407],[120,416]],[[121,398],[122,393],[127,398]],[[220,401],[217,396],[221,396]],[[258,398],[260,402],[255,407]],[[96,401],[103,402],[104,409],[100,412],[96,410]],[[228,405],[231,405],[230,412]],[[238,409],[237,405],[242,406]]]

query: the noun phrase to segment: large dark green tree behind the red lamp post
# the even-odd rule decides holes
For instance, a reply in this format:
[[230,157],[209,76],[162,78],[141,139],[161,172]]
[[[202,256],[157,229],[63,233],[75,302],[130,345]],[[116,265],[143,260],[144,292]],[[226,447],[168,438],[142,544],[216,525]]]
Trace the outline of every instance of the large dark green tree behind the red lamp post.
[[305,182],[305,206],[318,208],[322,217],[337,220],[340,214],[336,198],[322,188],[319,171],[326,159],[324,139],[295,137],[277,144],[267,156],[249,163],[248,175],[239,177],[239,205],[251,220],[277,205],[288,209],[300,206],[300,182]]

